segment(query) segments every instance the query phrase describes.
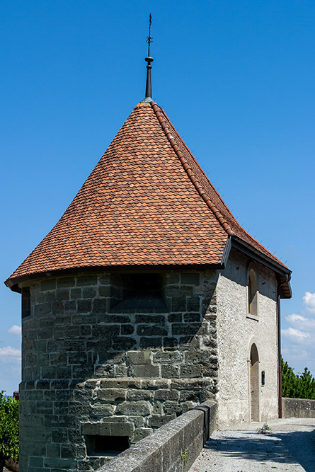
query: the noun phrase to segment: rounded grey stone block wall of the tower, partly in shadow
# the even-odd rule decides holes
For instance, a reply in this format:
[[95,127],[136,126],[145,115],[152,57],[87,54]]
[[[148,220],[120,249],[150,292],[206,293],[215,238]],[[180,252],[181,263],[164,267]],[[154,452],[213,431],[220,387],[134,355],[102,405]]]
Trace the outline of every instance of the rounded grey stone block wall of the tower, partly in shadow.
[[123,278],[22,287],[21,471],[95,470],[106,454],[86,456],[94,438],[132,444],[214,398],[215,272],[160,274],[153,307],[141,294],[125,303]]

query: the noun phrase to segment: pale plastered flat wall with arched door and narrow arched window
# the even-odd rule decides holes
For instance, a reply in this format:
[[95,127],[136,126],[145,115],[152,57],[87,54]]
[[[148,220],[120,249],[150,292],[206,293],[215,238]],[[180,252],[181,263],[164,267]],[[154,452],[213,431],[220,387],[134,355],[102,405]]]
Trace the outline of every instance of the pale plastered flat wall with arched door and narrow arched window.
[[259,355],[260,421],[277,418],[277,281],[268,267],[260,263],[251,265],[257,277],[258,317],[250,318],[247,308],[250,262],[246,255],[232,248],[217,284],[219,427],[251,420],[249,359],[253,343]]

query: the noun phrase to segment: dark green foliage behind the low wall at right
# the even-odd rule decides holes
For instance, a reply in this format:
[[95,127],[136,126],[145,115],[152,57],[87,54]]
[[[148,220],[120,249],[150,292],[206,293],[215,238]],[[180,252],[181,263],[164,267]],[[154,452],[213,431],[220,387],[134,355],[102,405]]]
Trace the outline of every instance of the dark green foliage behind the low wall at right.
[[305,367],[303,374],[294,374],[292,367],[281,357],[282,396],[315,400],[315,379]]

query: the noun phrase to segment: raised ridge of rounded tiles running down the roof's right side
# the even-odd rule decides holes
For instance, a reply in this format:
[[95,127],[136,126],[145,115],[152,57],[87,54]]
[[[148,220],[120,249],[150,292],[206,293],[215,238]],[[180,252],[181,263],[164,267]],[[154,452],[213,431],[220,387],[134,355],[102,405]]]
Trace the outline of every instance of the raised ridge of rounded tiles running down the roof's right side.
[[[229,236],[234,236],[235,233],[231,229],[231,226],[229,225],[227,220],[224,219],[224,216],[222,215],[222,213],[219,212],[219,209],[217,209],[217,207],[214,205],[214,203],[210,199],[209,195],[207,195],[205,190],[203,190],[202,185],[200,185],[200,183],[198,182],[198,180],[195,176],[195,173],[193,173],[193,170],[190,168],[188,162],[185,159],[185,156],[183,156],[183,153],[181,152],[181,149],[179,149],[178,145],[175,142],[175,139],[173,139],[171,131],[168,128],[168,125],[167,125],[167,121],[166,121],[167,119],[166,119],[166,115],[164,113],[164,110],[162,110],[159,107],[159,105],[157,105],[157,103],[155,103],[155,102],[151,102],[151,107],[153,108],[154,113],[155,113],[157,119],[159,120],[161,128],[163,129],[163,131],[164,131],[164,133],[165,133],[165,135],[168,139],[168,142],[171,144],[173,150],[175,151],[176,155],[178,156],[178,159],[181,161],[185,172],[187,173],[188,177],[190,178],[190,181],[193,183],[193,185],[194,185],[195,189],[197,190],[197,192],[199,193],[200,197],[202,197],[202,200],[206,203],[207,207],[210,208],[210,210],[214,214],[214,217],[217,218],[217,221],[219,221],[219,224],[221,224],[224,231],[226,231],[227,234],[229,234]],[[163,118],[163,116],[165,118]],[[189,149],[188,149],[188,151],[189,151]],[[194,160],[195,160],[195,158],[194,158]],[[195,160],[195,162],[197,162],[197,161]],[[198,164],[198,166],[199,166],[199,164]]]

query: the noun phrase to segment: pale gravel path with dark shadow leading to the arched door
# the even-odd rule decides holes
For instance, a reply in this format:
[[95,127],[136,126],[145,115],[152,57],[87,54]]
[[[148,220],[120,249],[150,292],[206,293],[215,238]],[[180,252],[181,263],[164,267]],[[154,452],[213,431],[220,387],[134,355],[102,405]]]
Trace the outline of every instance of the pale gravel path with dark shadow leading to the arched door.
[[315,472],[315,418],[270,420],[214,431],[189,472]]

